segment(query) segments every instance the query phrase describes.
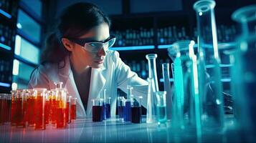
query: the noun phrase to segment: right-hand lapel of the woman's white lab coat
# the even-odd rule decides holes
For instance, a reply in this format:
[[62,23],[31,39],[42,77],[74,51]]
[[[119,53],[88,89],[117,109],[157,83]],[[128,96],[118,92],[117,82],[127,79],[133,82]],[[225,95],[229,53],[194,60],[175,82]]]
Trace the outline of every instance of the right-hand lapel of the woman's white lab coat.
[[105,65],[103,65],[99,69],[93,69],[90,77],[90,92],[89,92],[89,98],[87,102],[87,112],[86,114],[91,114],[93,102],[92,99],[100,98],[101,91],[103,90],[103,87],[105,87],[105,73],[106,68]]

